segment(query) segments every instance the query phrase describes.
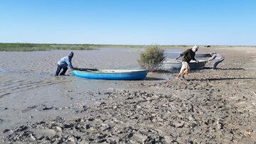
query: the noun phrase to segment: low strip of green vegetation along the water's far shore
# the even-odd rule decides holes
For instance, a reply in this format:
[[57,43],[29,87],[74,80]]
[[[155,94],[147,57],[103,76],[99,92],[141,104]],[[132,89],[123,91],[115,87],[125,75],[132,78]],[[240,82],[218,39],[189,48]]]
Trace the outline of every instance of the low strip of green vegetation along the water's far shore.
[[[159,45],[159,48],[188,45]],[[149,48],[150,45],[92,45],[92,44],[36,44],[0,43],[0,51],[97,50],[98,48]]]

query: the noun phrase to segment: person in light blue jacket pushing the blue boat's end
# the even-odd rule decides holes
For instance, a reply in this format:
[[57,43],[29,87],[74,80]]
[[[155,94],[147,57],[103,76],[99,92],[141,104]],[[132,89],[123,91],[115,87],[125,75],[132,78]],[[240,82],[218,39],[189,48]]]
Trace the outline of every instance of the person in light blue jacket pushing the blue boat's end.
[[71,64],[71,60],[73,56],[74,56],[74,53],[70,52],[70,55],[63,57],[58,61],[58,67],[57,67],[55,76],[59,75],[61,69],[63,69],[63,72],[61,72],[60,75],[65,75],[65,72],[67,72],[68,67],[70,67],[70,69],[73,70],[74,67]]

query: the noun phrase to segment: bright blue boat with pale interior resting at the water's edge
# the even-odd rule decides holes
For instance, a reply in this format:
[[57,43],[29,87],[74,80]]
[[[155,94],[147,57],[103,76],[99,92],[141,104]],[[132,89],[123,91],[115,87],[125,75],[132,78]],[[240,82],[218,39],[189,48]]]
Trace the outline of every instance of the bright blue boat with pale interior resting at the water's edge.
[[109,79],[109,80],[142,80],[145,79],[147,70],[97,70],[75,69],[72,71],[76,77],[86,79]]

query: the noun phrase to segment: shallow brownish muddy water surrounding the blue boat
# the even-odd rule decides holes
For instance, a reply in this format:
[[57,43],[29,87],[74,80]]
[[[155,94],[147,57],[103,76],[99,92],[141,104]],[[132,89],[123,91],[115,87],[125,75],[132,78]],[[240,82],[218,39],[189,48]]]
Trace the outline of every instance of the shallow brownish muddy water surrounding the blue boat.
[[[58,60],[70,51],[0,52],[0,129],[51,116],[80,116],[86,106],[94,104],[97,99],[105,99],[104,94],[112,89],[139,89],[134,86],[134,81],[74,77],[70,69],[66,72],[70,76],[53,77]],[[75,53],[74,67],[139,69],[137,58],[143,49],[72,51]],[[176,56],[170,52],[166,51],[166,57]],[[169,78],[169,75],[149,73],[145,80]]]

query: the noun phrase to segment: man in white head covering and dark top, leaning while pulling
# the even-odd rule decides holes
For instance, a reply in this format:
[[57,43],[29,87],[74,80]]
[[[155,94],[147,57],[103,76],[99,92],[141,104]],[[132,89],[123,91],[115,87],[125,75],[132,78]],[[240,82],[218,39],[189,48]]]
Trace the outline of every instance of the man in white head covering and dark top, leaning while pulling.
[[195,55],[196,55],[196,51],[198,50],[198,45],[193,46],[193,48],[190,48],[188,50],[185,50],[184,52],[182,52],[180,55],[178,55],[178,57],[175,57],[175,60],[178,60],[179,57],[183,57],[182,59],[182,67],[181,67],[181,71],[179,72],[177,78],[180,79],[180,77],[184,77],[185,74],[188,74],[190,71],[190,67],[188,65],[188,62],[190,62],[191,60],[195,60],[196,63],[198,63],[198,60],[196,60]]

